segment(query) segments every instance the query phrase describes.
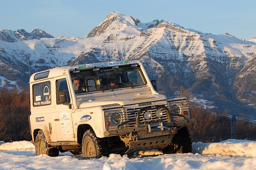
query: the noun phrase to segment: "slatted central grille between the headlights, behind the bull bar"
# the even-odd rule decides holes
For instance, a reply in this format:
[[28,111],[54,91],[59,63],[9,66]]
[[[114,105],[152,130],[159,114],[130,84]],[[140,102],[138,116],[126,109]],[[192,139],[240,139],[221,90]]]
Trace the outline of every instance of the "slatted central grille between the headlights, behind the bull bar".
[[[150,107],[151,107],[151,108],[150,108]],[[139,124],[145,124],[145,123],[148,123],[148,122],[157,122],[157,121],[159,121],[159,120],[164,121],[164,122],[168,122],[168,116],[167,116],[167,112],[166,112],[165,109],[163,109],[163,108],[157,108],[157,107],[154,108],[154,106],[153,106],[153,108],[152,108],[152,106],[150,106],[150,107],[147,107],[147,108],[150,108],[150,109],[144,110],[144,111],[142,111],[142,113],[140,114],[140,117],[139,117]],[[138,108],[138,107],[136,107],[136,108],[125,107],[125,109],[126,109],[126,112],[127,112],[127,118],[128,118],[128,120],[129,120],[129,121],[128,121],[129,123],[127,123],[127,125],[128,125],[129,127],[134,127],[134,126],[135,126],[135,123],[136,123],[136,120],[135,120],[136,114],[137,114],[141,109],[143,109],[143,108]],[[160,109],[160,110],[162,110],[162,112],[163,112],[163,116],[160,117],[160,118],[156,117],[156,115],[155,115],[155,112],[156,112],[157,109]],[[144,118],[143,114],[144,114],[145,111],[151,112],[151,118],[150,118],[150,119],[145,119],[145,118]]]

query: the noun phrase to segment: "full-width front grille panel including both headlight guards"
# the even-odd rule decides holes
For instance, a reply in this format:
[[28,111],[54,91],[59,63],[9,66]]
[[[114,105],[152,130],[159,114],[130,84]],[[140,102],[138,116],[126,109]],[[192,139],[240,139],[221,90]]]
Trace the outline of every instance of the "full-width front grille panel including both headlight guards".
[[[156,117],[156,110],[160,109],[163,112],[162,117]],[[116,130],[119,128],[136,127],[136,115],[138,113],[138,124],[137,127],[143,126],[145,124],[157,123],[157,122],[178,122],[184,119],[190,119],[189,103],[186,98],[174,98],[167,100],[167,107],[164,105],[146,105],[138,106],[126,105],[120,106],[118,104],[105,105],[103,106],[106,130]],[[144,118],[144,112],[148,111],[151,113],[150,119]],[[119,113],[121,115],[121,122],[115,125],[111,120],[111,115],[114,113]],[[108,123],[108,125],[107,125]]]

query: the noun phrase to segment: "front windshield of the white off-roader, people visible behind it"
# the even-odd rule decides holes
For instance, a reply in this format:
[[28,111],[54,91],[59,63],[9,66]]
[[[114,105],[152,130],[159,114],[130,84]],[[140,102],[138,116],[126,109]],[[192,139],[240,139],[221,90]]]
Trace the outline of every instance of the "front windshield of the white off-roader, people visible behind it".
[[71,71],[70,74],[76,93],[134,88],[146,84],[138,64]]

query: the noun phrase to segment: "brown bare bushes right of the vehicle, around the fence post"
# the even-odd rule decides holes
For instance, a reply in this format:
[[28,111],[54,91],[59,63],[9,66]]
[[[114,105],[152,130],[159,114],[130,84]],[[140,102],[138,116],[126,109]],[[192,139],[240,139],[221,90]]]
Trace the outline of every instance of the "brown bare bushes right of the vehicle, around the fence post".
[[[229,111],[214,112],[202,107],[191,107],[191,116],[197,123],[189,126],[192,141],[218,142],[231,138],[231,119]],[[249,119],[236,121],[237,139],[256,140],[256,124]]]

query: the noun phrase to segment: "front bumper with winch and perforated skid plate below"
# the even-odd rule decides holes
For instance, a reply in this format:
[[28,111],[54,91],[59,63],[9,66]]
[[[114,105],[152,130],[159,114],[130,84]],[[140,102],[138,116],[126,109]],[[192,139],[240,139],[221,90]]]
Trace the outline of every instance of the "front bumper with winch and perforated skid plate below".
[[105,136],[119,135],[129,149],[125,152],[134,153],[143,150],[165,148],[172,141],[172,138],[182,127],[196,123],[196,119],[185,119],[172,123],[146,124],[141,127],[117,129],[105,131]]

